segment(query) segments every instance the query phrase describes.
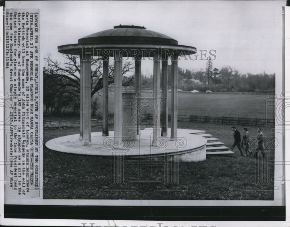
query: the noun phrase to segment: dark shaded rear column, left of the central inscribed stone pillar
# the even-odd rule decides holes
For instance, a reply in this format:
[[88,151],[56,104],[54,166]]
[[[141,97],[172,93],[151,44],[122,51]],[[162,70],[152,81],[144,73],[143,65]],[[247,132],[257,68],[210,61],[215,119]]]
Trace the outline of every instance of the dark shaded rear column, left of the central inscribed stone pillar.
[[109,135],[109,130],[108,130],[108,77],[109,77],[109,60],[103,60],[103,136]]

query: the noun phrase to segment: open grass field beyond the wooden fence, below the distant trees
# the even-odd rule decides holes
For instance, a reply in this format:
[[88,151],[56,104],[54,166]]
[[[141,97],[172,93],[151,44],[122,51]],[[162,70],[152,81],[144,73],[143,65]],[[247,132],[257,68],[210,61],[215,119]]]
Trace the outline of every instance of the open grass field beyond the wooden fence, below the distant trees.
[[[168,109],[171,108],[171,93],[168,93]],[[102,97],[97,112],[102,112]],[[178,115],[211,117],[245,117],[265,119],[266,99],[269,95],[255,94],[205,94],[178,93]],[[114,112],[114,97],[109,93],[109,112]],[[150,112],[150,111],[148,111]],[[45,116],[45,120],[71,119]],[[79,117],[75,117],[79,119]],[[274,119],[274,107],[267,106],[267,119]]]

